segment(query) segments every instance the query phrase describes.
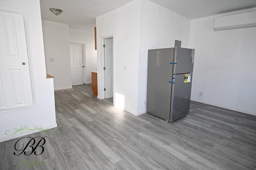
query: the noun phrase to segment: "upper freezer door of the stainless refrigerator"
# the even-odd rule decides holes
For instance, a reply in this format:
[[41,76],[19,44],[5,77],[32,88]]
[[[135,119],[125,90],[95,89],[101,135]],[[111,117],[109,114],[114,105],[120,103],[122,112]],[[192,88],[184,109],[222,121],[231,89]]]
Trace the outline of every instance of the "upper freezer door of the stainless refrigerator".
[[173,74],[193,72],[194,49],[174,48]]

